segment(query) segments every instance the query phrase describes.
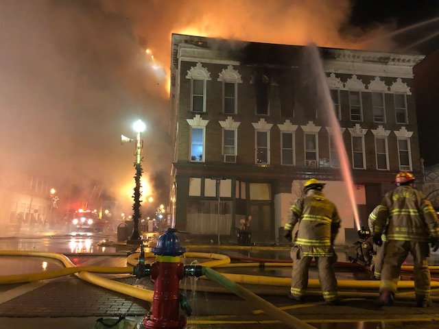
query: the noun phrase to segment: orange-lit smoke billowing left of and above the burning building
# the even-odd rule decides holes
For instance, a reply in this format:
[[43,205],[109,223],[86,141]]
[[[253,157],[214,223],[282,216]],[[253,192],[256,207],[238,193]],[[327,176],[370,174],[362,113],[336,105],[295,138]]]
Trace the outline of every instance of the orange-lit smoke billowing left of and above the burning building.
[[126,204],[134,146],[119,138],[134,137],[137,119],[147,123],[145,175],[167,196],[171,33],[361,48],[385,31],[346,32],[348,0],[1,2],[3,172],[47,175],[61,195],[99,181]]

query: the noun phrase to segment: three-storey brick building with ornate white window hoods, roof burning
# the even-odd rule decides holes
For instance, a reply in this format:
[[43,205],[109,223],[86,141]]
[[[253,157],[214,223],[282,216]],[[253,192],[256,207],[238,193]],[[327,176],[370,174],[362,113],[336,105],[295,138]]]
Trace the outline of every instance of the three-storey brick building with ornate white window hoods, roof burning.
[[315,177],[340,210],[337,243],[356,232],[322,83],[361,224],[398,171],[422,175],[412,68],[423,56],[319,48],[319,84],[309,47],[174,34],[171,51],[171,210],[180,230],[233,241],[252,215],[252,241],[282,241],[289,207]]

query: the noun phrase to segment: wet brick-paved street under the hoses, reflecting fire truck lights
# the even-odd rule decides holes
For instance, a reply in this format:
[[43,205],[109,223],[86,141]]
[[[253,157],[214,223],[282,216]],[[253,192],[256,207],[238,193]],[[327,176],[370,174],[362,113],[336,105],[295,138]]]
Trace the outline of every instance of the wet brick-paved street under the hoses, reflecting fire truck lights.
[[[150,237],[150,247],[155,239]],[[193,243],[193,242],[191,242]],[[184,241],[182,242],[184,245]],[[226,254],[232,263],[247,263],[249,258],[257,263],[269,260],[289,262],[289,247],[239,247],[237,245],[185,245],[187,252]],[[21,250],[31,252],[49,252],[66,255],[76,266],[126,267],[127,257],[136,247],[117,242],[115,232],[75,236],[56,232],[38,232],[23,236],[3,236],[0,238],[0,250]],[[150,249],[146,249],[149,251]],[[338,260],[346,264],[346,247],[337,248]],[[438,254],[431,257],[431,265],[438,263]],[[152,260],[153,261],[153,260]],[[189,265],[201,258],[185,258],[182,262]],[[410,263],[410,260],[409,262]],[[0,275],[36,273],[62,269],[64,265],[58,260],[46,257],[2,256]],[[351,264],[349,264],[351,265]],[[339,280],[368,280],[370,273],[353,266],[337,266]],[[291,267],[224,267],[221,273],[248,274],[252,276],[289,278]],[[106,274],[106,278],[123,282],[135,287],[152,290],[149,278],[137,279],[130,274]],[[318,278],[315,267],[310,270],[309,278]],[[438,306],[429,309],[413,307],[412,300],[399,300],[396,306],[379,310],[375,307],[377,290],[370,290],[371,297],[364,297],[364,292],[351,292],[344,297],[342,306],[327,306],[322,301],[319,289],[310,289],[305,304],[294,305],[285,297],[287,287],[242,284],[260,295],[268,302],[285,310],[287,313],[307,321],[315,328],[321,329],[380,329],[380,328],[436,328]],[[215,282],[183,278],[180,289],[187,295],[193,308],[188,318],[187,329],[198,328],[287,328],[263,313],[251,303],[242,300],[233,293],[225,291]],[[124,315],[136,321],[150,309],[150,303],[108,291],[84,282],[75,276],[63,276],[51,280],[25,284],[0,285],[0,328],[93,328],[97,317],[117,317]],[[367,295],[367,294],[366,294]],[[17,313],[16,309],[20,312]],[[19,315],[19,317],[17,317]],[[401,321],[401,317],[404,319]],[[60,325],[57,319],[65,318],[67,322]],[[44,324],[44,325],[43,325]]]

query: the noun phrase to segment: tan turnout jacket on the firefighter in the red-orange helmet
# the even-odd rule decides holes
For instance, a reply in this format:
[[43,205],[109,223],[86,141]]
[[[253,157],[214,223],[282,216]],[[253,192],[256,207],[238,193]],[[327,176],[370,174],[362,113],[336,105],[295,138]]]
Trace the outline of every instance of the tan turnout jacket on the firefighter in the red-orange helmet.
[[421,191],[408,185],[398,186],[381,201],[373,231],[383,230],[388,241],[429,242],[431,237],[439,237],[438,216]]

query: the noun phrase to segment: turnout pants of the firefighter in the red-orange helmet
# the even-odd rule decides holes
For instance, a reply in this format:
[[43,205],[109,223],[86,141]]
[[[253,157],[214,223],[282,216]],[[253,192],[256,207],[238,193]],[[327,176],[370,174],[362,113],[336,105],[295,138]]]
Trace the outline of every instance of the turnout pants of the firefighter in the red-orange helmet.
[[413,276],[416,298],[426,299],[429,297],[430,271],[427,264],[429,245],[426,242],[416,241],[390,240],[385,242],[385,257],[379,286],[380,293],[383,290],[396,293],[401,265],[409,252],[412,254],[414,262]]

